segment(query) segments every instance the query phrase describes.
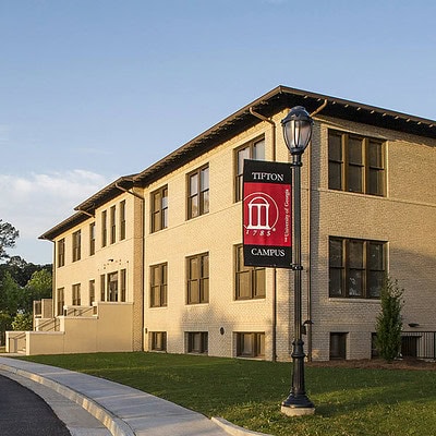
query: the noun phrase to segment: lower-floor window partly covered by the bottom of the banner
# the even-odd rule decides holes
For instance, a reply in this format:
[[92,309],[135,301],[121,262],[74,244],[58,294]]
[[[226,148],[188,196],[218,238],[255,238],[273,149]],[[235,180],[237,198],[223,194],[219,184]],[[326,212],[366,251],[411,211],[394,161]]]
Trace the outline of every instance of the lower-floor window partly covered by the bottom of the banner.
[[242,245],[235,250],[235,299],[264,299],[266,295],[265,268],[244,265]]

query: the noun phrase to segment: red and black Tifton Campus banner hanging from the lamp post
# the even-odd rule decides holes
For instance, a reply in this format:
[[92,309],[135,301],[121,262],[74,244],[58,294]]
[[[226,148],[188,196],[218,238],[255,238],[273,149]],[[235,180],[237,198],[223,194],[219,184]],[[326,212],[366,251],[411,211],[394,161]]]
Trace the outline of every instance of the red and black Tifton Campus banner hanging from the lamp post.
[[245,266],[290,268],[291,199],[289,164],[244,160],[242,221]]

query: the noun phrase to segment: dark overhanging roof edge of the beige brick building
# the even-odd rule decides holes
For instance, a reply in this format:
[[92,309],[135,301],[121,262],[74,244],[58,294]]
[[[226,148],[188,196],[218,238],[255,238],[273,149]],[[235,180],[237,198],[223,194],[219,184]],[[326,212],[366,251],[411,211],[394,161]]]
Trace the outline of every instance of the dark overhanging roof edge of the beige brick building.
[[232,136],[262,122],[252,113],[252,110],[269,118],[283,109],[290,109],[294,106],[304,106],[308,112],[313,112],[323,102],[326,102],[326,105],[320,111],[322,116],[436,140],[436,121],[323,94],[278,86],[201,133],[144,171],[122,177],[110,183],[76,206],[74,209],[78,210],[77,214],[65,219],[39,238],[52,240],[69,228],[86,220],[89,215],[93,216],[96,207],[117,197],[120,191],[131,190],[133,186],[146,186]]

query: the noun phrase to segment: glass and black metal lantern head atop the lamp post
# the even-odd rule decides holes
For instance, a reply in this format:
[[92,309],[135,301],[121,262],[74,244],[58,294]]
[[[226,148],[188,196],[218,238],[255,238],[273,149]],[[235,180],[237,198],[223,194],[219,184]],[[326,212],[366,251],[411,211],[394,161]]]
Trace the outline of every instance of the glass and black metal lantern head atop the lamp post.
[[312,137],[313,119],[302,106],[295,106],[281,120],[286,145],[291,155],[302,155]]

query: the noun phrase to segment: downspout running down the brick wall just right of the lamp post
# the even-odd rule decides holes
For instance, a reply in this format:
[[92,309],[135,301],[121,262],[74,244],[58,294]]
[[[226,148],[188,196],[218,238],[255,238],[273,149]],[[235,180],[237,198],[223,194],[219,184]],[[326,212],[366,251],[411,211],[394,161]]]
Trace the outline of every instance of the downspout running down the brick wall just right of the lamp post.
[[[315,117],[327,106],[327,99],[324,100],[323,105],[320,105],[317,109],[315,109],[311,117]],[[310,323],[306,325],[307,331],[307,361],[312,361],[312,226],[311,226],[311,216],[312,216],[312,147],[307,148],[308,154],[308,165],[307,165],[307,319]]]

